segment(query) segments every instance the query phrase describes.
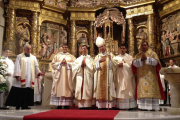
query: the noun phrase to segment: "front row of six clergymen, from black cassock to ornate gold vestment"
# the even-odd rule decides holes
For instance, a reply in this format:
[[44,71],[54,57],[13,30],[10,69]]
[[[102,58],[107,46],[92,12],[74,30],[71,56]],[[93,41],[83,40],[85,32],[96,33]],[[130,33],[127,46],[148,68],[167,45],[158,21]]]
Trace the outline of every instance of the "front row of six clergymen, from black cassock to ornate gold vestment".
[[[116,106],[131,110],[138,104],[141,110],[160,110],[159,99],[165,99],[159,77],[161,65],[148,42],[141,43],[141,52],[134,59],[126,53],[124,44],[118,56],[107,51],[103,38],[98,37],[96,45],[99,54],[95,59],[87,54],[86,44],[81,45],[82,55],[77,59],[67,52],[66,44],[62,46],[63,51],[54,56],[50,105],[68,109],[75,98],[82,109],[96,105],[98,109]],[[14,73],[9,76],[14,80],[5,105],[30,109],[34,93],[38,93],[33,89],[36,78],[44,76],[30,45],[25,45],[24,52],[17,56]]]

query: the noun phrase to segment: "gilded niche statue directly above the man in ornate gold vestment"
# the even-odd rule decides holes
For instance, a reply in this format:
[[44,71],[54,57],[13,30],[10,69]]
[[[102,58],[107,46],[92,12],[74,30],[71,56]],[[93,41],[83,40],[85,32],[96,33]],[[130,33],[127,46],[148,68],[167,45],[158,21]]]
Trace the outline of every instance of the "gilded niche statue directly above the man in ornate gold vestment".
[[143,29],[139,29],[139,32],[138,32],[136,38],[137,38],[138,50],[140,50],[140,44],[141,44],[141,42],[147,41],[147,34],[144,32]]

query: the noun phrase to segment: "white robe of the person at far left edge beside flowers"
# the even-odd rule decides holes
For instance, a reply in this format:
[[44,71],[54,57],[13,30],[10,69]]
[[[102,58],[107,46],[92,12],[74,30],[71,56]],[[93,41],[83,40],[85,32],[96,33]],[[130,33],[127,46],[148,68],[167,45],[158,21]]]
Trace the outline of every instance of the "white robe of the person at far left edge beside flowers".
[[7,68],[7,73],[10,74],[9,76],[6,76],[6,84],[7,84],[7,89],[8,91],[11,90],[12,87],[12,83],[13,83],[13,73],[14,73],[14,63],[11,59],[9,59],[8,57],[1,57],[1,60],[3,62],[6,62],[8,64],[8,68]]

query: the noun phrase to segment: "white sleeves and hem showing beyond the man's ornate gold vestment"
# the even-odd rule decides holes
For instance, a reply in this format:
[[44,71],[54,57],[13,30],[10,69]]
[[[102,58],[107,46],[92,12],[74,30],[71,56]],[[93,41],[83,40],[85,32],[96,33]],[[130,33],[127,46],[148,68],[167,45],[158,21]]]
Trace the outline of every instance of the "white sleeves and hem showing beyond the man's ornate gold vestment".
[[[158,64],[158,60],[151,57],[147,57],[145,64],[156,66]],[[143,61],[141,61],[141,59],[134,60],[133,65],[135,67],[141,67],[143,66]],[[160,109],[159,99],[141,98],[137,100],[137,104],[138,104],[139,109],[146,109],[146,110],[159,110]]]

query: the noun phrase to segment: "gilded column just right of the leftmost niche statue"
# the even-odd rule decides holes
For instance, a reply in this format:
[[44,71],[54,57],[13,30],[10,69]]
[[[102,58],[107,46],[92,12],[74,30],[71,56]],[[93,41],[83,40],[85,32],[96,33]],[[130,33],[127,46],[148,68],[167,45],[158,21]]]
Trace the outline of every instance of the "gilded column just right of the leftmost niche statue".
[[38,13],[33,12],[32,17],[32,27],[31,27],[31,45],[32,45],[32,54],[37,55],[37,32],[38,32]]

